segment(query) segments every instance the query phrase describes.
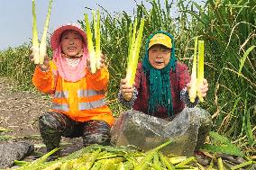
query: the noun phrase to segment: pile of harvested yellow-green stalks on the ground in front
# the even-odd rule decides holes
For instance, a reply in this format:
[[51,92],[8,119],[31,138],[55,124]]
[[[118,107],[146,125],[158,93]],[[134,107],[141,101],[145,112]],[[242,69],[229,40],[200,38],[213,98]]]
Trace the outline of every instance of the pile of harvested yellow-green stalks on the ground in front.
[[[46,162],[51,154],[58,148],[52,150],[45,156],[27,163],[17,161],[16,165],[21,166],[17,170],[162,170],[162,169],[206,169],[201,166],[195,157],[175,157],[173,155],[164,156],[159,150],[170,141],[153,148],[144,153],[134,146],[110,147],[91,145],[72,153],[67,157],[61,157],[58,160]],[[224,169],[224,162],[221,158],[214,159],[207,169]],[[255,164],[253,161],[247,161],[241,165],[232,166],[231,169],[249,167]]]

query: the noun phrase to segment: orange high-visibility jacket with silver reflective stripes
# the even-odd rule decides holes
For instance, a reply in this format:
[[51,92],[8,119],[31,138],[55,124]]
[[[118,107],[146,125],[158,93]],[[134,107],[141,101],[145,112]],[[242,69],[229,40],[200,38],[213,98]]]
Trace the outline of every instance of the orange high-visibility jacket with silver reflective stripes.
[[51,112],[64,113],[74,121],[100,120],[113,125],[113,114],[105,105],[109,80],[106,67],[96,74],[86,69],[86,76],[78,82],[69,82],[54,75],[56,70],[56,65],[50,61],[49,71],[42,72],[40,67],[36,67],[32,76],[33,85],[44,94],[52,94]]

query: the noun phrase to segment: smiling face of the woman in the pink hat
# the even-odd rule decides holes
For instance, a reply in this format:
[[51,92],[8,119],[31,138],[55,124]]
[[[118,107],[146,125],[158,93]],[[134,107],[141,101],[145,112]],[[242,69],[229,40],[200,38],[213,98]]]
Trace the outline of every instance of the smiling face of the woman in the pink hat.
[[64,31],[61,36],[60,46],[66,55],[74,57],[83,48],[83,38],[78,31]]

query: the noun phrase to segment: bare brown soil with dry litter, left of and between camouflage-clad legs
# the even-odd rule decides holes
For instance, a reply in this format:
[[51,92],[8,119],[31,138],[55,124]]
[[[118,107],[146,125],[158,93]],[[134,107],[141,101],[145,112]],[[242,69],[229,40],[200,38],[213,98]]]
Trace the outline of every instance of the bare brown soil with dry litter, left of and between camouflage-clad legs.
[[[30,140],[36,152],[46,153],[42,143],[38,118],[50,108],[50,98],[38,92],[14,91],[15,84],[0,78],[0,128],[11,130],[0,133],[0,144],[17,140]],[[4,138],[3,138],[4,137]],[[82,148],[82,139],[62,138],[61,155]]]

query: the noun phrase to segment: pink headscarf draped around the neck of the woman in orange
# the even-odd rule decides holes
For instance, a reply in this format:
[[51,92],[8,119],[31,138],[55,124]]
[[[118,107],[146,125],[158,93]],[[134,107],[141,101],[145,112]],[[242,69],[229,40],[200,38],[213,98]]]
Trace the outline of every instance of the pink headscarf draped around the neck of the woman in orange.
[[61,55],[61,47],[58,46],[57,49],[53,51],[53,62],[57,66],[57,71],[54,72],[54,75],[59,75],[65,80],[69,82],[77,82],[84,76],[86,76],[86,67],[87,67],[87,58],[88,51],[87,48],[84,45],[84,53],[83,56],[80,59],[78,66],[71,67],[67,63],[67,59],[62,57]]

